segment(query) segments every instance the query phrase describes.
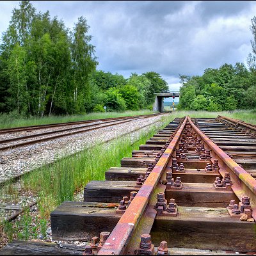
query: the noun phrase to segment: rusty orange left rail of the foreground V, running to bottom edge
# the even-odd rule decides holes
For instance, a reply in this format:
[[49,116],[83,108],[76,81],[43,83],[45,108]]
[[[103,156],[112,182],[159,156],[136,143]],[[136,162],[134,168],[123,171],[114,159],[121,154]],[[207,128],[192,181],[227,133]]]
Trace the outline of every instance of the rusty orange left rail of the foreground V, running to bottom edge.
[[[176,132],[175,136],[164,151],[163,156],[159,159],[156,166],[154,166],[150,175],[141,186],[137,195],[132,200],[131,204],[124,212],[115,228],[109,235],[106,242],[103,244],[102,248],[99,250],[99,255],[122,255],[125,252],[127,244],[131,241],[131,237],[134,234],[134,231],[139,225],[141,216],[145,212],[145,209],[148,205],[150,197],[154,193],[159,179],[164,173],[164,169],[168,161],[172,157],[172,152],[179,141],[179,138],[184,130],[188,116],[186,116],[184,122],[180,126],[179,130]],[[155,214],[156,214],[156,210]],[[141,225],[141,223],[140,223]]]

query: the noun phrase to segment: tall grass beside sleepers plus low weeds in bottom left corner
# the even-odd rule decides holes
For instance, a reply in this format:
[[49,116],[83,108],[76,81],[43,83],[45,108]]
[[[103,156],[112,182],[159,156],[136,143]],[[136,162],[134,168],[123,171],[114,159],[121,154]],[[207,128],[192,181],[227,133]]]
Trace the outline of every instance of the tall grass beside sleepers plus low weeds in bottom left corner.
[[[131,136],[122,136],[110,143],[86,148],[74,156],[65,157],[24,175],[21,182],[23,189],[33,191],[38,196],[39,215],[33,218],[35,226],[30,225],[32,219],[28,211],[25,211],[19,220],[12,221],[12,225],[3,223],[4,234],[8,237],[8,241],[12,241],[13,238],[32,239],[39,232],[45,236],[45,221],[49,221],[51,211],[65,200],[74,200],[75,193],[81,191],[91,180],[104,180],[106,170],[120,166],[123,157],[131,157],[132,150],[138,149],[171,120],[173,116],[165,116],[162,118],[161,126],[152,125],[148,131],[140,132],[134,142],[131,142]],[[13,196],[17,194],[17,190],[15,192],[10,185],[1,189],[2,195],[11,191],[14,193]]]

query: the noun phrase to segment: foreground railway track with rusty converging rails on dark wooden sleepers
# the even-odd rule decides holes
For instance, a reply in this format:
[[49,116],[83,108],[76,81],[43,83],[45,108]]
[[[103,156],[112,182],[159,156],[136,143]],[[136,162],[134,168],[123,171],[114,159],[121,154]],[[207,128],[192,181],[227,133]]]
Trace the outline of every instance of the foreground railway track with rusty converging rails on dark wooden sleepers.
[[52,211],[52,238],[88,241],[84,255],[256,254],[255,173],[252,134],[175,118],[89,182],[83,202]]

